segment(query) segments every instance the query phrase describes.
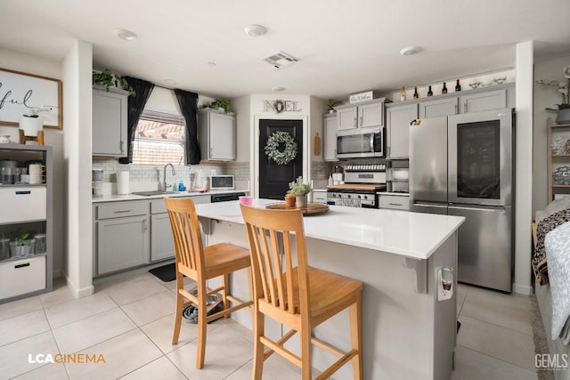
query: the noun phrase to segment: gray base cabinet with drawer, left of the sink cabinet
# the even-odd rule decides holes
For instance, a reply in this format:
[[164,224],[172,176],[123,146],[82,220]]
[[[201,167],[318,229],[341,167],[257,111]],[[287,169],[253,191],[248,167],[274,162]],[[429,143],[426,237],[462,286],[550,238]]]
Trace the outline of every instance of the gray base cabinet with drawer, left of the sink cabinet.
[[95,275],[150,263],[148,200],[95,204],[94,217]]

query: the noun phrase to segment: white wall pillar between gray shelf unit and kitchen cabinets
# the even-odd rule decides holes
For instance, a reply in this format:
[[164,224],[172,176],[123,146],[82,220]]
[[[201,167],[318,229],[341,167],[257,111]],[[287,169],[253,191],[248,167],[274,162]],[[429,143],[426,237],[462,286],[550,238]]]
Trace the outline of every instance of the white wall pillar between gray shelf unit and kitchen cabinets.
[[76,41],[63,61],[64,164],[67,174],[65,275],[76,297],[93,287],[91,128],[93,45]]

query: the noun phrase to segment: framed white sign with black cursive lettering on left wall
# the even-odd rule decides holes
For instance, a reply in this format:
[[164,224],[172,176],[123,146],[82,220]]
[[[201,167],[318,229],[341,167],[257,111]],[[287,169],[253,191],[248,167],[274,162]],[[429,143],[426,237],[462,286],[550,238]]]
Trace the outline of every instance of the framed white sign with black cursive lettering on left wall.
[[44,126],[61,129],[61,80],[0,69],[0,124],[18,125],[40,108]]

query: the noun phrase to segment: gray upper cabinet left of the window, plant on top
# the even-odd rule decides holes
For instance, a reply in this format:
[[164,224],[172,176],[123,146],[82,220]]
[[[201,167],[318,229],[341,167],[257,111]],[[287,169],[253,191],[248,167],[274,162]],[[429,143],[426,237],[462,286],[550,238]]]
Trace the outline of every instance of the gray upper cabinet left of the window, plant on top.
[[126,156],[128,93],[123,90],[94,86],[92,152],[94,156]]

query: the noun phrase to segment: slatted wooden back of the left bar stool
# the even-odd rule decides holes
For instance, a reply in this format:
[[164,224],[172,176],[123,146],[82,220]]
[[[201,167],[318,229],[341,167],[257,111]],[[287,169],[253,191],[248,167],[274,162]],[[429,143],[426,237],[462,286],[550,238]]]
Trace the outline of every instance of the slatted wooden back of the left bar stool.
[[164,198],[175,242],[176,265],[182,263],[193,278],[204,272],[204,253],[194,201]]

